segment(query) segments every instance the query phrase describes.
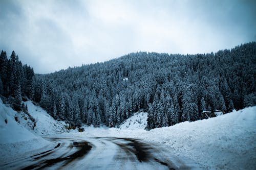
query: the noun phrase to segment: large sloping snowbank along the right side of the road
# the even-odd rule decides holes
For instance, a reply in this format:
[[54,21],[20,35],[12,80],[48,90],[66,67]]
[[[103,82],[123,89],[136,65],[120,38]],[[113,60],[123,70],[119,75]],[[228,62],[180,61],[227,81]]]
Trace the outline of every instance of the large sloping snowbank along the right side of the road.
[[255,169],[256,106],[133,137],[164,143],[177,156],[188,157],[205,169]]

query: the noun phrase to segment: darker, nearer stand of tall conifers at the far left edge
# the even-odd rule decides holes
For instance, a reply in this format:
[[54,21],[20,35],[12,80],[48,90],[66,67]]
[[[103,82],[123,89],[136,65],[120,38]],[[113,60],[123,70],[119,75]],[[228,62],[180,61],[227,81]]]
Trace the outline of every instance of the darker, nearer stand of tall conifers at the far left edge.
[[0,56],[0,94],[15,109],[21,110],[22,96],[34,99],[34,70],[27,64],[23,65],[13,51],[10,59],[6,52]]

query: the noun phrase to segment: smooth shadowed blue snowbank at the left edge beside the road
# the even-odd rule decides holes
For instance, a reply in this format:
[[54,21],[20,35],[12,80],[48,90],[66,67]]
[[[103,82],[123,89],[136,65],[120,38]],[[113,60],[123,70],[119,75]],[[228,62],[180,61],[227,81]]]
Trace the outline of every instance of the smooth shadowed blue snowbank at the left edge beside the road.
[[3,161],[50,144],[18,124],[14,118],[16,114],[19,113],[5,106],[0,99],[0,158]]

